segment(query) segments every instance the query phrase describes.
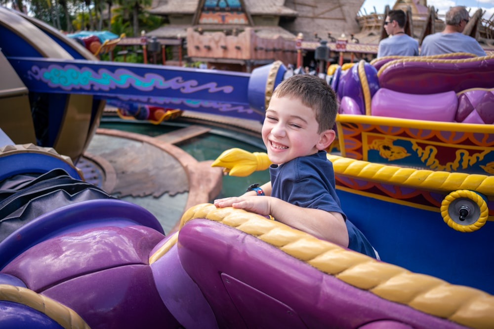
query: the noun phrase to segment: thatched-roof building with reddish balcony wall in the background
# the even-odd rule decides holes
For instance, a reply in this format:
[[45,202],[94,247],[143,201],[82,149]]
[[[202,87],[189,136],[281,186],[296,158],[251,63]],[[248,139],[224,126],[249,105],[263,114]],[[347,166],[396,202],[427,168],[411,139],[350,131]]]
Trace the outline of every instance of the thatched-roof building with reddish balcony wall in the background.
[[208,68],[250,72],[275,60],[296,65],[302,55],[311,61],[321,38],[357,33],[363,2],[154,0],[149,12],[163,16],[165,25],[146,36],[184,39],[188,62]]

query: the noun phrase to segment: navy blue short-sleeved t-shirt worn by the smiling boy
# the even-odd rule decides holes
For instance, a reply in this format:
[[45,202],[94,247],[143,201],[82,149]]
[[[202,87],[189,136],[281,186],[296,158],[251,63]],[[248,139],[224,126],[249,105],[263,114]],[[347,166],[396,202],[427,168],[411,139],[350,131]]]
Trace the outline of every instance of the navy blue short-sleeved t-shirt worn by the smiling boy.
[[303,208],[340,213],[348,230],[348,248],[375,258],[365,235],[353,225],[341,210],[336,195],[333,164],[326,151],[301,156],[281,165],[269,167],[271,196]]

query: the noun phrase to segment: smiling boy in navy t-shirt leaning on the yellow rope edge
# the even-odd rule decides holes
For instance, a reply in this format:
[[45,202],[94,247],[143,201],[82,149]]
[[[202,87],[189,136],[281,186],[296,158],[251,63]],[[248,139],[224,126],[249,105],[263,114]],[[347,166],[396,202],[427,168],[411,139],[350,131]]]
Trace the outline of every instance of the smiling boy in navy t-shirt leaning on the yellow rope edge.
[[297,74],[275,89],[262,126],[271,181],[216,207],[271,215],[301,231],[375,257],[371,244],[344,215],[325,149],[335,138],[334,91],[325,80]]

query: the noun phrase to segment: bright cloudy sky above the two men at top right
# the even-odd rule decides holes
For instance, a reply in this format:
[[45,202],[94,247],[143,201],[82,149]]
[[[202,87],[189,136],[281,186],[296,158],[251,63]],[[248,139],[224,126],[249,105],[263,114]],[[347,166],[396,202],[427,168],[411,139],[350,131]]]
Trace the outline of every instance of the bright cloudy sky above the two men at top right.
[[[377,13],[381,14],[384,13],[386,4],[392,8],[395,2],[396,0],[365,0],[361,11],[362,14],[365,14],[363,9],[365,8],[367,13],[370,14],[371,12],[374,12],[375,7]],[[436,10],[439,9],[440,15],[444,15],[450,7],[459,5],[470,8],[470,15],[473,15],[478,8],[482,8],[486,11],[483,16],[485,19],[491,18],[494,14],[494,0],[427,0],[427,5],[434,6]]]

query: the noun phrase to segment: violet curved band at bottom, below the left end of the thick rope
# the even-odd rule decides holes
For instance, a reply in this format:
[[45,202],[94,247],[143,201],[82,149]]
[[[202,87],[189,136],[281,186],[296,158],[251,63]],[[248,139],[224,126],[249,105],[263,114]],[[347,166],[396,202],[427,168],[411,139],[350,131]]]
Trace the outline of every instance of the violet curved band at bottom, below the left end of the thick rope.
[[184,328],[218,328],[206,298],[184,271],[176,245],[152,263],[151,270],[165,307]]

